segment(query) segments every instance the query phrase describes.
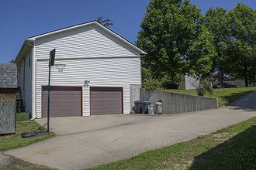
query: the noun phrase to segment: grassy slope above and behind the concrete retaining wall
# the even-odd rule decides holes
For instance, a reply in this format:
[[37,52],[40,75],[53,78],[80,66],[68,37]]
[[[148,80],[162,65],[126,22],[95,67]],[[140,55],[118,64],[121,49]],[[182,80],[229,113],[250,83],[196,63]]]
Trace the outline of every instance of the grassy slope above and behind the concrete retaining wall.
[[[256,90],[256,87],[237,87],[237,88],[227,88],[227,89],[214,89],[212,95],[209,95],[209,93],[206,93],[205,96],[217,98],[219,107],[222,107],[224,105],[227,105],[231,101],[234,101],[237,98],[242,97],[242,96],[244,96],[244,94],[249,93],[253,90]],[[197,95],[195,90],[168,89],[167,91]]]

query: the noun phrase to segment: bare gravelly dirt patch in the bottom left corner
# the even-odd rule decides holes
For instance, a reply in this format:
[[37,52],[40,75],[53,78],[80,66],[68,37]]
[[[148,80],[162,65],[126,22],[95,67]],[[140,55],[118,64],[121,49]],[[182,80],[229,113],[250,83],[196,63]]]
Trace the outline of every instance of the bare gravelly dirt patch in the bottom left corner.
[[36,165],[29,162],[25,162],[19,158],[15,158],[11,155],[5,155],[0,152],[0,169],[34,169],[34,170],[54,170],[57,168],[49,168],[43,165]]

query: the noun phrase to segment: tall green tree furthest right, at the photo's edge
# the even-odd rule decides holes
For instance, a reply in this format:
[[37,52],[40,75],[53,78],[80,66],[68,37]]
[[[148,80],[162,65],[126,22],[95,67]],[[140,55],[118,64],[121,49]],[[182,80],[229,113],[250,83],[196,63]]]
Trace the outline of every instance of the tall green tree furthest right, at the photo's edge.
[[227,17],[230,39],[226,72],[244,79],[248,87],[256,81],[256,11],[239,2]]

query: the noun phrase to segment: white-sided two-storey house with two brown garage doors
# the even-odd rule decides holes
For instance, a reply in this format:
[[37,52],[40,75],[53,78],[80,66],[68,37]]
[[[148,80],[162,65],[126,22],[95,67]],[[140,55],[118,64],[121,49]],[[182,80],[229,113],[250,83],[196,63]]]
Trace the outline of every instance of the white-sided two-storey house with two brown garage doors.
[[51,67],[50,117],[130,113],[139,99],[140,56],[146,53],[95,21],[25,40],[16,63],[26,112],[47,117],[52,49],[55,64],[66,66],[62,73]]

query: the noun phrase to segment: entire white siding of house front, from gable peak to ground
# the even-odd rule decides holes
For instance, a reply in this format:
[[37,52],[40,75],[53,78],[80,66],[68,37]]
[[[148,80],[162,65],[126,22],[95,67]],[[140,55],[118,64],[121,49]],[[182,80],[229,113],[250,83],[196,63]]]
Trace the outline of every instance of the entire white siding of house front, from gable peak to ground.
[[[56,49],[59,73],[51,67],[52,86],[123,87],[123,111],[130,113],[130,84],[140,85],[140,53],[95,25],[36,39],[36,115],[41,117],[42,86],[48,83],[48,59]],[[83,87],[83,115],[90,115],[89,87]]]

